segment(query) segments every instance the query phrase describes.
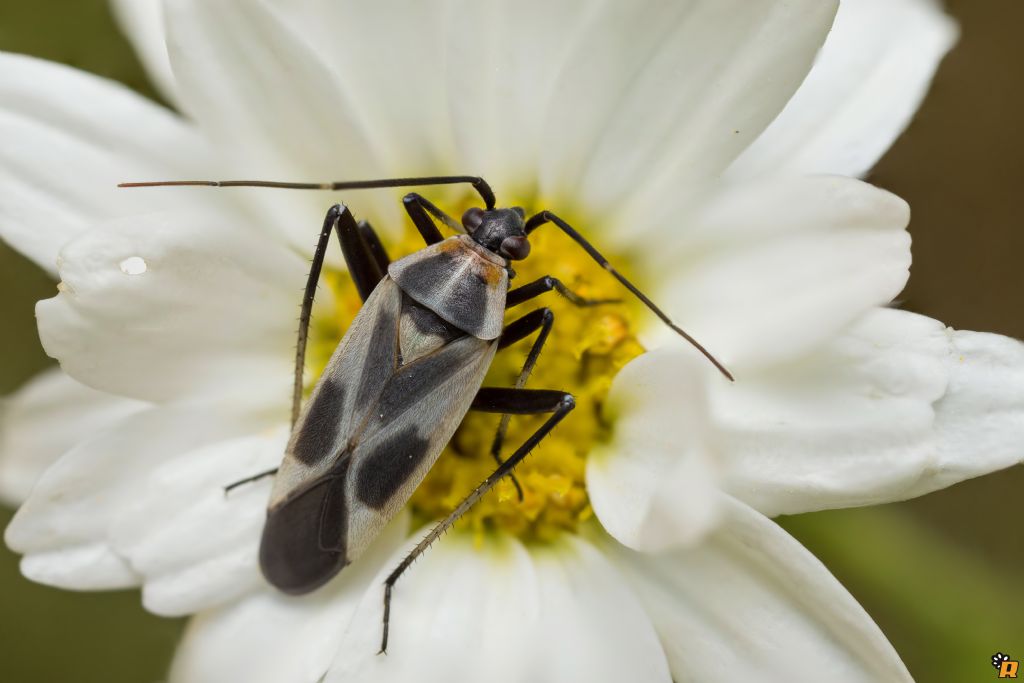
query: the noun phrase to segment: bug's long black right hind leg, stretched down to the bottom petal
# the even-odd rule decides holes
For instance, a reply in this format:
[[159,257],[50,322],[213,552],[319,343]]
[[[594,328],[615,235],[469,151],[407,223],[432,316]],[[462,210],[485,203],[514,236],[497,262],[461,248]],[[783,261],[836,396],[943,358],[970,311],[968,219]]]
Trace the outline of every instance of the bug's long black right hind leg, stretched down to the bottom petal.
[[562,419],[575,408],[575,399],[572,394],[564,391],[552,391],[549,389],[507,389],[496,387],[483,387],[476,393],[473,399],[472,411],[482,411],[485,413],[502,413],[510,415],[540,415],[551,413],[551,417],[538,428],[522,445],[516,449],[509,459],[502,463],[490,476],[467,496],[462,503],[456,506],[447,517],[437,523],[426,537],[423,538],[412,552],[406,556],[398,566],[394,568],[384,582],[384,634],[381,639],[380,652],[387,651],[388,624],[391,618],[391,592],[398,579],[406,570],[430,547],[444,531],[446,531],[462,515],[480,500],[484,494],[494,488],[495,484],[502,477],[509,474],[512,469],[522,462],[522,459],[529,455],[529,452],[537,447],[537,444],[555,428]]

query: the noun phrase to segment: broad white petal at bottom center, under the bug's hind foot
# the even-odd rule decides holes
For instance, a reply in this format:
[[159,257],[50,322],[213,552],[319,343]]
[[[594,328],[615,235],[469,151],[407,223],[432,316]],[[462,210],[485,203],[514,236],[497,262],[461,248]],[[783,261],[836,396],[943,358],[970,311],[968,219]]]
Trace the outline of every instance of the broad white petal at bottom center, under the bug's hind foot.
[[384,569],[325,683],[670,680],[644,610],[578,537],[529,549],[445,537],[397,585],[387,656],[378,656]]

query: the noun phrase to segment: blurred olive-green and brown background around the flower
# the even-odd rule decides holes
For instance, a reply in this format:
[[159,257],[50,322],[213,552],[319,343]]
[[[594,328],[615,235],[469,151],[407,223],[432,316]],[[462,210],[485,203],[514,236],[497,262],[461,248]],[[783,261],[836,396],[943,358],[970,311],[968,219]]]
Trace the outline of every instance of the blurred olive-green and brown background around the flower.
[[[962,329],[1024,337],[1024,3],[947,3],[958,46],[870,181],[913,207],[903,306]],[[118,79],[155,96],[102,0],[0,0],[0,49]],[[0,141],[2,143],[2,141]],[[34,302],[53,283],[0,244],[0,392],[50,362]],[[994,678],[1024,658],[1024,467],[915,501],[782,519],[877,618],[921,683]],[[10,512],[0,509],[0,525]],[[0,680],[157,681],[183,623],[134,592],[76,594],[22,579],[0,547]]]

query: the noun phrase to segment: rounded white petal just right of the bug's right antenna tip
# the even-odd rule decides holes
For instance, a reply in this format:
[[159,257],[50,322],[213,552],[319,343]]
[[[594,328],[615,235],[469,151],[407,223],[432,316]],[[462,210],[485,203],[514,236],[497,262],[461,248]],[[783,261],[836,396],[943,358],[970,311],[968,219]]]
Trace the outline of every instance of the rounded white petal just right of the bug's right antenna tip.
[[[662,238],[648,271],[664,273],[655,285],[675,319],[742,379],[895,297],[910,265],[908,220],[901,199],[849,178],[735,186]],[[648,341],[678,344],[663,327]]]

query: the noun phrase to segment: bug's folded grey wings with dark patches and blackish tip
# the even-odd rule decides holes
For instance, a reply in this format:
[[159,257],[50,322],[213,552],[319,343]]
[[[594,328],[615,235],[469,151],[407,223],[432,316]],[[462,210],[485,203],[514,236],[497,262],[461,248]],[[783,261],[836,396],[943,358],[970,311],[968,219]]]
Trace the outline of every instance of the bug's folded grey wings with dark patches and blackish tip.
[[455,433],[494,357],[496,341],[464,336],[399,367],[400,310],[401,293],[385,278],[296,423],[260,546],[264,575],[285,592],[323,585],[380,533]]

